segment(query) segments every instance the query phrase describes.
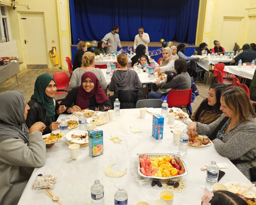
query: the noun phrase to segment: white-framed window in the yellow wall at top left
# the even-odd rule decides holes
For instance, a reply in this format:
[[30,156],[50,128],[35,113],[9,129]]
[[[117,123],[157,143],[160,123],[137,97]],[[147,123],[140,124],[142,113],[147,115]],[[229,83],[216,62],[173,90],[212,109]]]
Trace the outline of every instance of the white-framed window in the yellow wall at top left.
[[11,41],[11,35],[9,30],[9,22],[8,22],[8,15],[5,6],[0,6],[0,17],[2,21],[0,21],[0,35],[5,36],[6,42]]

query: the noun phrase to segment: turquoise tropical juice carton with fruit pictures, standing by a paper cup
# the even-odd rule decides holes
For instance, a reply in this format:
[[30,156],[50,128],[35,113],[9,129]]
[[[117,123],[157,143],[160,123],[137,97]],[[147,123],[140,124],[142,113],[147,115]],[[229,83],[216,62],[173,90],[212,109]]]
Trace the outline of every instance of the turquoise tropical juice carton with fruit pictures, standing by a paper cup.
[[102,130],[89,130],[89,155],[94,158],[103,155],[103,131]]

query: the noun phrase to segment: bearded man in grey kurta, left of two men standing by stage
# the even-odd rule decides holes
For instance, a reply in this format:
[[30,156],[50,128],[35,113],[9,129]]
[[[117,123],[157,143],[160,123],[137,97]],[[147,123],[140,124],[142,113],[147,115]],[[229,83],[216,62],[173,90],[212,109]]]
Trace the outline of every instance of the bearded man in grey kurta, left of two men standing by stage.
[[104,38],[102,38],[102,41],[107,44],[107,53],[111,54],[112,51],[115,53],[117,52],[117,46],[120,47],[122,53],[123,49],[120,43],[119,35],[117,34],[119,32],[119,27],[117,25],[114,25],[112,28],[112,32],[107,33]]

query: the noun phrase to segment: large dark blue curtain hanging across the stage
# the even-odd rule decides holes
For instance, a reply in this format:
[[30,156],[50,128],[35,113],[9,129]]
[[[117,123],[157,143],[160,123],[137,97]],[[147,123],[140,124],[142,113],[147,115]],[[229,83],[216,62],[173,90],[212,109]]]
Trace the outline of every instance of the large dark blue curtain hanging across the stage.
[[151,42],[160,38],[195,43],[199,0],[69,0],[73,43],[101,40],[118,25],[121,41],[134,41],[143,26]]

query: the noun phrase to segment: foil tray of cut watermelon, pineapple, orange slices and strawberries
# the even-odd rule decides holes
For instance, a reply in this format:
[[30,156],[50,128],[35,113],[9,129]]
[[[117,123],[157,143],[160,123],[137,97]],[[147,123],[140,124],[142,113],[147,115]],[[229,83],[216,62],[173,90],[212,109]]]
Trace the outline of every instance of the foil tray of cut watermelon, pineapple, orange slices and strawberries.
[[166,153],[139,153],[138,173],[142,179],[158,181],[179,181],[188,174],[179,155]]

